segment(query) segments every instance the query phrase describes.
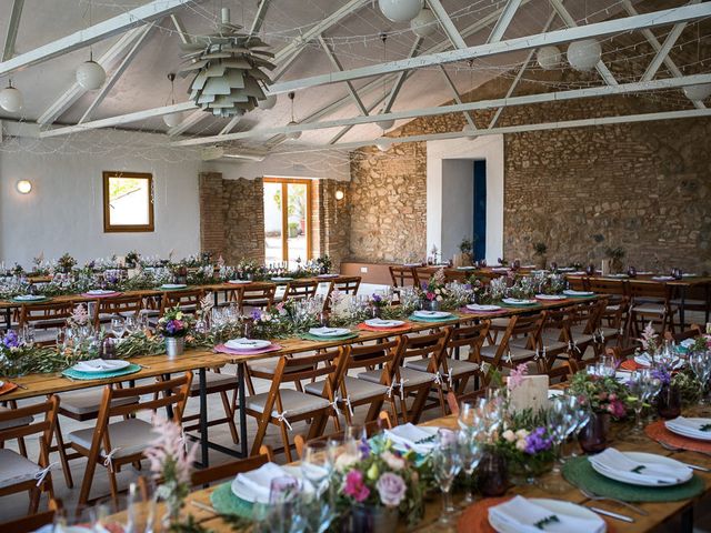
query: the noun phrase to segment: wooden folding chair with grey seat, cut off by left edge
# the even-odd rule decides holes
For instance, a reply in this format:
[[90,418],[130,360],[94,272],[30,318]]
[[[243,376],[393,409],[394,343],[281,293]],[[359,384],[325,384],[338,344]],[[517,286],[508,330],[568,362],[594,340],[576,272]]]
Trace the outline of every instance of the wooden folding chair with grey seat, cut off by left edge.
[[[30,514],[37,513],[42,492],[49,493],[50,497],[54,496],[49,446],[52,442],[58,406],[59,399],[51,396],[46,402],[0,412],[0,428],[3,428],[0,430],[0,444],[29,435],[40,435],[39,459],[36,463],[12,450],[0,449],[0,496],[28,491]],[[36,421],[40,415],[43,415],[42,419]],[[31,422],[24,423],[28,419]]]

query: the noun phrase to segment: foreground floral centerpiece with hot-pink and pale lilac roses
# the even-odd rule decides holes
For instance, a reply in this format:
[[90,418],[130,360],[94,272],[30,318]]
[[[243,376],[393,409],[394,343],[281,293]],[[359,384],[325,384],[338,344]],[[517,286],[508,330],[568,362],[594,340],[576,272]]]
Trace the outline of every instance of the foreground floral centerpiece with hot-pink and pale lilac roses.
[[425,466],[415,465],[414,452],[393,450],[389,440],[378,447],[361,442],[357,453],[341,454],[336,461],[337,505],[343,512],[350,510],[349,531],[365,531],[373,519],[390,520],[394,531],[399,514],[410,525],[422,516],[427,476],[421,470]]

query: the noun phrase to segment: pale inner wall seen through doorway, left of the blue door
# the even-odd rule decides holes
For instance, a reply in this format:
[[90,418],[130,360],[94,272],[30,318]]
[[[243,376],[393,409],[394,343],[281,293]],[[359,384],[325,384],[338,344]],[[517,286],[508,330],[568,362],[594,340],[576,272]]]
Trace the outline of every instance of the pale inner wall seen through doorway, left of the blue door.
[[471,239],[474,212],[474,163],[471,159],[442,160],[442,258],[459,253],[462,239]]

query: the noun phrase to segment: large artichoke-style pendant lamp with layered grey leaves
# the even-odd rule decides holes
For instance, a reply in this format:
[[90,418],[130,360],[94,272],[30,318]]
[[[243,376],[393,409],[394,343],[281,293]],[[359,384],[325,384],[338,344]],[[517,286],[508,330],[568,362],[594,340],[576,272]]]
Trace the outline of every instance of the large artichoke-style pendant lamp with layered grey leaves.
[[193,76],[190,100],[216,117],[238,117],[267,100],[271,79],[264,70],[274,69],[269,61],[274,54],[264,50],[269,46],[259,37],[241,29],[230,22],[229,8],[222,8],[217,33],[181,46],[189,53],[180,76]]

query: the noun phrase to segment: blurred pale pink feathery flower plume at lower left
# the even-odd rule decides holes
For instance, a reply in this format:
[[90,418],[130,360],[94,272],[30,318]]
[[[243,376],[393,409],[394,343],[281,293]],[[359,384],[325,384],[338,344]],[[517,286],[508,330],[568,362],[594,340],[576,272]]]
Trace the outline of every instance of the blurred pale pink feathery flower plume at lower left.
[[180,425],[160,416],[153,418],[153,432],[158,438],[143,454],[153,477],[160,482],[156,495],[166,502],[163,523],[170,526],[179,520],[183,501],[190,493],[190,472],[198,455],[198,443],[188,450]]

